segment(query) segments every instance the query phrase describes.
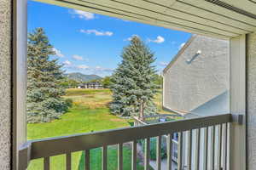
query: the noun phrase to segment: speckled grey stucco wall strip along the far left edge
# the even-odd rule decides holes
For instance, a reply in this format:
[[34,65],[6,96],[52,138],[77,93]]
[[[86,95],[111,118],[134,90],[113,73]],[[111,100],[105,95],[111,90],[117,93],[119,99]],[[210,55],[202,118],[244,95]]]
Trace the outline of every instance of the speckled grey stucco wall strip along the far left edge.
[[0,0],[0,169],[11,156],[11,2]]

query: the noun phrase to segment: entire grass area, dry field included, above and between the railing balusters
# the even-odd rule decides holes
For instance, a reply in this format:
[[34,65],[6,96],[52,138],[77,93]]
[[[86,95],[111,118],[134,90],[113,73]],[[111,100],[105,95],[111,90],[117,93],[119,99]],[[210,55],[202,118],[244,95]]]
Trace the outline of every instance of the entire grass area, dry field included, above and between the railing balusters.
[[[64,98],[73,99],[73,107],[61,119],[53,122],[28,124],[27,139],[44,139],[76,133],[90,133],[118,127],[131,126],[131,122],[113,116],[108,110],[111,93],[108,89],[68,89]],[[44,150],[44,149],[43,149]],[[93,170],[101,167],[101,150],[91,150],[91,166]],[[75,152],[72,155],[73,169],[84,167],[84,152]],[[117,150],[111,147],[108,150],[108,170],[117,167]],[[124,147],[124,165],[131,166],[131,150]],[[138,165],[138,168],[143,167]],[[32,161],[28,170],[43,170],[43,159]],[[50,169],[65,169],[65,156],[52,156]],[[129,169],[129,168],[128,168]]]

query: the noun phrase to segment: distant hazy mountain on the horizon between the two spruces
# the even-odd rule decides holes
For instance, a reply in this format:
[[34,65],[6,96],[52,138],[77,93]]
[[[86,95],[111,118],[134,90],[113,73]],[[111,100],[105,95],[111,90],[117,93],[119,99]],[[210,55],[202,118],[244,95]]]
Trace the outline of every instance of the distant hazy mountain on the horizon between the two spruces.
[[79,82],[90,82],[91,80],[101,80],[102,77],[97,75],[84,75],[80,72],[73,72],[64,74],[65,77],[71,80],[79,81]]

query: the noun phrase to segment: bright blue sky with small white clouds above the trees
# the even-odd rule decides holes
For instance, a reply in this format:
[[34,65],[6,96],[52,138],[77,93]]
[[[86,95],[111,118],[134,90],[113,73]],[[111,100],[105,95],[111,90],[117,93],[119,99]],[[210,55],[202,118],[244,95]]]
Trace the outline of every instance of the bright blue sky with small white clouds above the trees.
[[129,37],[142,38],[162,71],[191,34],[183,31],[28,1],[28,32],[43,27],[67,72],[109,76],[121,61]]

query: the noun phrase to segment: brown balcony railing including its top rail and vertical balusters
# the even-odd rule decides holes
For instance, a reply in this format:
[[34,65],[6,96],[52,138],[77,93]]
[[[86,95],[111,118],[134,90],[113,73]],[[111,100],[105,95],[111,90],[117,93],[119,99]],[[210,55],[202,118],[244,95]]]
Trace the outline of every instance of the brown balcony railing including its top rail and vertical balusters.
[[[50,157],[65,154],[66,169],[71,170],[72,152],[85,152],[85,170],[90,170],[90,150],[102,148],[102,170],[107,170],[108,146],[118,145],[118,169],[123,169],[123,144],[131,143],[131,168],[137,169],[137,141],[145,140],[144,169],[149,169],[150,139],[156,137],[156,169],[161,168],[161,140],[166,139],[166,167],[174,170],[228,169],[230,114],[205,116],[175,122],[160,122],[137,127],[84,133],[51,139],[32,140],[19,150],[19,168],[25,170],[31,160],[44,158],[44,170],[49,170]],[[177,149],[172,136],[178,133]],[[166,138],[161,138],[166,136]],[[177,154],[175,154],[177,150]],[[177,156],[175,156],[177,155]],[[177,160],[174,158],[177,157]],[[177,162],[175,162],[177,161]]]

